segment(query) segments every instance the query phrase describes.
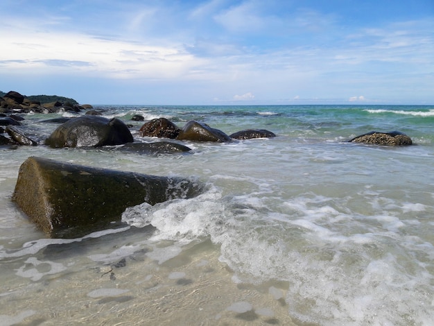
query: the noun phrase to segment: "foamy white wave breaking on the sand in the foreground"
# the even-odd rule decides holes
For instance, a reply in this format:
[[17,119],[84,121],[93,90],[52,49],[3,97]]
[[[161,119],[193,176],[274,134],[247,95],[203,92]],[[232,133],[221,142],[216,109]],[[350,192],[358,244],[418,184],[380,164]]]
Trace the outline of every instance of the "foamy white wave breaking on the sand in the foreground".
[[[151,241],[184,246],[210,239],[220,246],[220,261],[234,271],[234,282],[288,282],[289,312],[304,323],[429,320],[433,313],[426,286],[433,278],[418,266],[428,264],[426,255],[434,255],[434,247],[402,232],[413,222],[375,209],[375,201],[373,214],[363,216],[332,199],[298,196],[272,204],[262,193],[222,196],[214,188],[196,198],[131,207],[123,221],[153,225]],[[276,205],[279,212],[273,212]],[[401,209],[419,214],[428,208],[403,203]]]

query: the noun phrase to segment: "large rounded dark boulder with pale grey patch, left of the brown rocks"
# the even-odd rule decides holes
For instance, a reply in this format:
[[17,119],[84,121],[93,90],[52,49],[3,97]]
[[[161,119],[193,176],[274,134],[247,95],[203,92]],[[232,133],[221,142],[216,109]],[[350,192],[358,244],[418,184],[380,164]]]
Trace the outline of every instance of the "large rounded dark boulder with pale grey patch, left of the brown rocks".
[[130,130],[117,118],[85,115],[62,123],[46,139],[52,148],[121,145],[132,142]]

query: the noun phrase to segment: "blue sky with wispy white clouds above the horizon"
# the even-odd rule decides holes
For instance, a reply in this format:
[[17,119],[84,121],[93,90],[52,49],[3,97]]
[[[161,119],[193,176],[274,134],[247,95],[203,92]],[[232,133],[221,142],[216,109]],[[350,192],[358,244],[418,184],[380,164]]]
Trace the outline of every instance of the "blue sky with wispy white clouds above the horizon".
[[433,0],[3,0],[1,12],[3,92],[434,105]]

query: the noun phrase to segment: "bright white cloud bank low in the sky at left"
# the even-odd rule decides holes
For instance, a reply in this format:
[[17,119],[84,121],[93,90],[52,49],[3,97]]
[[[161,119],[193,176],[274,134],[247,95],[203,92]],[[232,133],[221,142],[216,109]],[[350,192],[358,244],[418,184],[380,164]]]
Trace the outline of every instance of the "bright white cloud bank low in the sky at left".
[[[153,46],[81,33],[10,31],[0,35],[0,43],[3,49],[8,49],[0,51],[3,71],[28,73],[33,70],[36,74],[69,71],[99,77],[174,78],[187,77],[190,69],[204,62],[178,49],[176,44]],[[57,65],[53,65],[56,62]]]

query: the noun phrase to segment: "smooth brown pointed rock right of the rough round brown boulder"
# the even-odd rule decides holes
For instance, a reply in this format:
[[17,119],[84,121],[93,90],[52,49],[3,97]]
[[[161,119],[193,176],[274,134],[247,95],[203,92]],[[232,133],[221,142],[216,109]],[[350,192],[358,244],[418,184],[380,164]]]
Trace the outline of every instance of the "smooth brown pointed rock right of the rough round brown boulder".
[[225,134],[225,132],[216,128],[211,128],[206,123],[200,123],[198,121],[191,120],[185,124],[177,136],[180,140],[192,140],[192,141],[217,141],[226,142],[231,141],[231,137]]

